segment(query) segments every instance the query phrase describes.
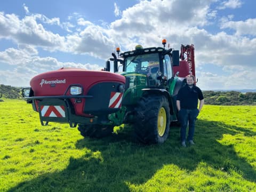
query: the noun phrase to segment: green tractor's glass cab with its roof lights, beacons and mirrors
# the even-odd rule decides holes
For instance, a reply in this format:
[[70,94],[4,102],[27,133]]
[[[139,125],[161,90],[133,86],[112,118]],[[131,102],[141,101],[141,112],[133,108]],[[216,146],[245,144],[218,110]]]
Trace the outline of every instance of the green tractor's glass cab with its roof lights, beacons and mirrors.
[[[145,79],[146,86],[163,89],[167,81],[173,77],[173,66],[179,66],[179,51],[164,47],[135,46],[135,50],[119,54],[118,58],[113,53],[113,58],[106,62],[105,70],[110,71],[110,61],[114,62],[114,73],[118,72],[118,62],[123,66],[122,75],[132,79]],[[144,82],[144,81],[142,81]],[[143,83],[142,83],[143,84]]]

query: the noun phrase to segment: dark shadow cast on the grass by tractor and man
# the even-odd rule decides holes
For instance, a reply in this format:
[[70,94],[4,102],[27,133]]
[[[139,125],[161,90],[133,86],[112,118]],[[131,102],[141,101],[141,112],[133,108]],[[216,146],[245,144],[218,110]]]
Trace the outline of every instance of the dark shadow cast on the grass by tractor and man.
[[85,154],[81,158],[70,157],[65,170],[40,175],[9,191],[129,191],[126,182],[145,183],[163,165],[175,164],[180,169],[194,171],[202,161],[227,173],[235,170],[244,179],[255,182],[256,171],[237,156],[234,146],[218,142],[223,134],[256,135],[243,127],[198,120],[196,145],[188,148],[180,147],[177,127],[173,127],[167,141],[158,146],[136,145],[132,142],[131,129],[100,140],[86,138],[76,143],[76,148]]

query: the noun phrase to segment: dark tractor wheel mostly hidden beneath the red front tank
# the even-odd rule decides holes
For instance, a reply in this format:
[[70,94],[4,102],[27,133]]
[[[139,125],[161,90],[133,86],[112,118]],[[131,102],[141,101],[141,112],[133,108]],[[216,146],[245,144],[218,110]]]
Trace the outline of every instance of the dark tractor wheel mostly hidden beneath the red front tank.
[[78,130],[83,137],[90,138],[103,138],[111,135],[113,132],[113,126],[111,125],[84,125],[79,124]]

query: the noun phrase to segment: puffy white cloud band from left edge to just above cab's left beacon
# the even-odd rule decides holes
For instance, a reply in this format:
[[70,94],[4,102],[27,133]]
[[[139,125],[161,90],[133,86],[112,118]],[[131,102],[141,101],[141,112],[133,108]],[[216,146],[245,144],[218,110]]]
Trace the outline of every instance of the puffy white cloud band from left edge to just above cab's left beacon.
[[[62,25],[59,18],[49,19],[41,14],[26,16],[20,20],[17,15],[0,12],[0,38],[9,38],[18,44],[43,47],[47,51],[90,54],[104,59],[114,49],[115,42],[111,37],[104,33],[103,28],[92,25],[91,22],[79,19],[79,25],[87,25],[85,29],[79,34],[61,36],[46,30],[37,19],[50,25]],[[67,22],[66,27],[74,26]]]

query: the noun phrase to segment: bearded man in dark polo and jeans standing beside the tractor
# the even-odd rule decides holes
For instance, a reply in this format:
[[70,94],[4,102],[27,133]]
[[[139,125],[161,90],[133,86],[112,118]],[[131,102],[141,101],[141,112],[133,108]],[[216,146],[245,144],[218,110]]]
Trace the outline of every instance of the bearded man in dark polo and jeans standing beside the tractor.
[[[196,117],[204,105],[204,96],[202,91],[194,85],[195,77],[193,75],[186,76],[187,84],[183,86],[177,95],[177,109],[179,111],[179,121],[181,124],[180,139],[181,146],[186,147],[186,129],[189,123],[188,142],[194,145],[193,136],[195,132]],[[198,106],[199,99],[199,109]]]

